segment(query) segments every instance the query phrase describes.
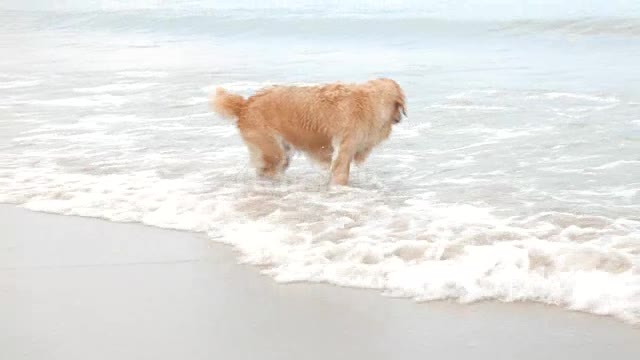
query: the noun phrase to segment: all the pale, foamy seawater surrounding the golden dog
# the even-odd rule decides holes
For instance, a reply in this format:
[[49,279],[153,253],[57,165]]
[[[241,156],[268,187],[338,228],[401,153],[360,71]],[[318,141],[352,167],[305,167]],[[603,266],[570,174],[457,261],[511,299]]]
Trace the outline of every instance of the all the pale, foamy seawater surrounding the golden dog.
[[[640,322],[636,5],[282,4],[0,8],[0,201],[206,232],[276,281]],[[409,118],[349,188],[303,156],[256,179],[207,108],[377,76]]]

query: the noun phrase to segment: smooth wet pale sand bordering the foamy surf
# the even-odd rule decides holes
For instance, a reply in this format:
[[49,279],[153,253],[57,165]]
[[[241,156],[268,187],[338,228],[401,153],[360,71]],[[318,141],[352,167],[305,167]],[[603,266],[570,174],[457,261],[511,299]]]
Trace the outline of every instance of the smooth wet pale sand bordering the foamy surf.
[[0,358],[637,359],[640,330],[535,304],[275,283],[195,233],[0,206]]

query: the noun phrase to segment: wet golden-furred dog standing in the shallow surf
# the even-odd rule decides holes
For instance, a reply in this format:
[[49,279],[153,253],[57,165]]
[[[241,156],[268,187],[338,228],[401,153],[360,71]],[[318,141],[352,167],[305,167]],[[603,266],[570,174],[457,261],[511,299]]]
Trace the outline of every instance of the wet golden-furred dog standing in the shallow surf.
[[277,85],[246,99],[217,88],[210,107],[236,121],[258,175],[282,174],[298,150],[330,168],[331,184],[343,186],[348,185],[351,163],[362,164],[407,116],[404,92],[388,78]]

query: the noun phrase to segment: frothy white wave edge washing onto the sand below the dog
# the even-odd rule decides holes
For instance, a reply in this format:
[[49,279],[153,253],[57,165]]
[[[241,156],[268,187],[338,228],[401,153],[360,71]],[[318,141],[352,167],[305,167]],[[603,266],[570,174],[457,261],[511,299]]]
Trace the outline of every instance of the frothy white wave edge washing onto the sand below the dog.
[[202,192],[206,178],[197,173],[162,179],[154,171],[32,168],[14,176],[20,185],[8,191],[0,183],[0,201],[206,232],[279,282],[374,288],[417,301],[538,301],[640,321],[637,221],[555,212],[509,218],[418,197],[389,206],[377,192],[309,185]]

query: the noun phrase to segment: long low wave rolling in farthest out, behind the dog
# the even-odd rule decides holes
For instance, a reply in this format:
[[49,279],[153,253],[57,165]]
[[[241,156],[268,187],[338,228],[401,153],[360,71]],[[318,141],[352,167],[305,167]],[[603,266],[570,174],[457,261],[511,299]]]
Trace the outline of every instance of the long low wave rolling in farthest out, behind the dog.
[[241,36],[332,36],[358,38],[401,35],[485,33],[574,36],[640,36],[638,17],[485,19],[438,17],[412,11],[259,11],[201,9],[129,9],[103,11],[5,11],[7,29],[46,28],[63,31],[97,30],[136,33],[216,34]]

